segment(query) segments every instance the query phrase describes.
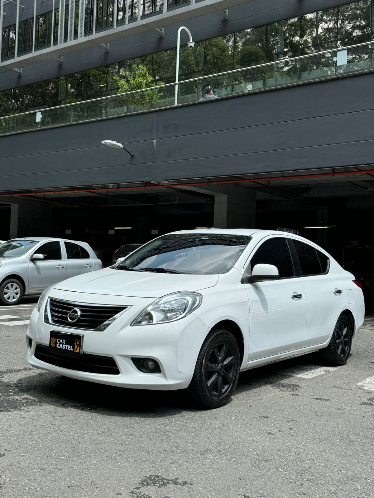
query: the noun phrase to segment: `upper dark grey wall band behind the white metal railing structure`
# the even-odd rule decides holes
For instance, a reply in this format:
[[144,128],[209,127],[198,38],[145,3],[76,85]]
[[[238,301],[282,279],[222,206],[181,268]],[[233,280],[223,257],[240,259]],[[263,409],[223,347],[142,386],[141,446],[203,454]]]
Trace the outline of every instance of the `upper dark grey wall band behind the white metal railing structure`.
[[[28,12],[30,12],[28,7],[32,3],[30,2],[31,0],[25,2],[25,10]],[[194,41],[200,41],[344,3],[350,2],[347,0],[249,0],[230,7],[229,17],[225,21],[222,21],[216,14],[206,14],[189,19],[183,24],[190,29]],[[37,5],[37,13],[51,10],[50,0],[45,2],[45,6],[39,0]],[[14,12],[13,7],[15,8],[12,3],[6,5],[4,26],[15,22],[15,17],[10,15]],[[21,19],[30,16],[26,13],[21,12]],[[100,48],[92,47],[64,55],[63,64],[60,65],[53,60],[29,64],[23,68],[22,76],[18,76],[11,70],[4,71],[0,73],[0,91],[176,47],[176,35],[180,26],[181,23],[166,26],[163,38],[158,38],[156,34],[149,31],[111,41],[108,53]]]

